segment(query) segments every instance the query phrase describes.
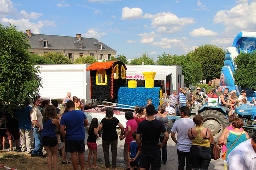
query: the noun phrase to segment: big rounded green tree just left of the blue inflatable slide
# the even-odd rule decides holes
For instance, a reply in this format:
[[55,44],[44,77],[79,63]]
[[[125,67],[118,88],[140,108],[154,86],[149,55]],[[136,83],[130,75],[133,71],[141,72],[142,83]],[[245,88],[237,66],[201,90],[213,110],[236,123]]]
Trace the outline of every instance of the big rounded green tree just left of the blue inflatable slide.
[[221,47],[211,44],[200,45],[194,51],[190,51],[188,55],[193,61],[201,64],[202,75],[203,79],[206,79],[206,84],[209,80],[220,78],[225,60],[225,52]]

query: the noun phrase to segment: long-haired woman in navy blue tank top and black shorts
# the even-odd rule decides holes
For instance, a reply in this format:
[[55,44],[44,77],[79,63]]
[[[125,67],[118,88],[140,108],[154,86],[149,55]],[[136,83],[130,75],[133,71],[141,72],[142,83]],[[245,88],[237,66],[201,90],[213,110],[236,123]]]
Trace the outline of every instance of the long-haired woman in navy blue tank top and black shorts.
[[54,106],[48,105],[45,108],[45,113],[43,117],[43,135],[42,142],[44,148],[48,154],[47,164],[49,170],[52,170],[52,156],[53,156],[53,166],[54,170],[57,170],[58,163],[58,142],[57,136],[55,134],[55,127],[60,129],[60,123],[57,119],[57,111]]

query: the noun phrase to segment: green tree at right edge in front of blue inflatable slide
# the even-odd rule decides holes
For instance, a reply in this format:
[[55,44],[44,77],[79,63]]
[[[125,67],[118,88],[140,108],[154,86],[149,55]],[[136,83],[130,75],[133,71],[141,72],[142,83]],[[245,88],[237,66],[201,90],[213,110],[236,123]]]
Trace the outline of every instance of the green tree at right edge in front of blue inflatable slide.
[[234,84],[242,89],[256,89],[256,51],[241,53],[234,58],[234,64],[236,65],[233,74]]

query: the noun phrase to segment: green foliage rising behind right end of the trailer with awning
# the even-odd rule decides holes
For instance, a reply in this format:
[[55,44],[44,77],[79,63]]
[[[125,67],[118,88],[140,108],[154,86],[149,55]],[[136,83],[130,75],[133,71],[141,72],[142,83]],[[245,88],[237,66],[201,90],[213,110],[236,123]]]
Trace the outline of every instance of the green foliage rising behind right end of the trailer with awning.
[[182,66],[182,74],[184,75],[184,83],[186,87],[189,84],[198,84],[202,80],[202,68],[199,63],[194,62],[189,55],[171,55],[163,54],[158,56],[158,65],[179,65]]

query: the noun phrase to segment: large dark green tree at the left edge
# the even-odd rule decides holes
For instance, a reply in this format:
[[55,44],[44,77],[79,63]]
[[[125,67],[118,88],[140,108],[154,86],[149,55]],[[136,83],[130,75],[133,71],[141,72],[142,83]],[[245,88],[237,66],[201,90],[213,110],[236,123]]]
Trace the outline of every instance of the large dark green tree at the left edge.
[[34,97],[41,86],[38,68],[30,62],[30,48],[24,33],[16,26],[0,23],[0,110],[13,113],[24,101]]

